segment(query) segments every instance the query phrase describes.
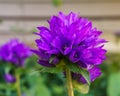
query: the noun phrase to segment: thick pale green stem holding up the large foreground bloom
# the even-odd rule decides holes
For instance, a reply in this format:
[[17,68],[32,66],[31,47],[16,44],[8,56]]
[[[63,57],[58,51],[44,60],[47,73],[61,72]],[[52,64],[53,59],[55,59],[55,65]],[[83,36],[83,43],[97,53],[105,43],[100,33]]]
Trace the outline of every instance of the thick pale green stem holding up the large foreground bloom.
[[67,81],[68,96],[74,96],[71,72],[68,68],[66,68],[66,81]]

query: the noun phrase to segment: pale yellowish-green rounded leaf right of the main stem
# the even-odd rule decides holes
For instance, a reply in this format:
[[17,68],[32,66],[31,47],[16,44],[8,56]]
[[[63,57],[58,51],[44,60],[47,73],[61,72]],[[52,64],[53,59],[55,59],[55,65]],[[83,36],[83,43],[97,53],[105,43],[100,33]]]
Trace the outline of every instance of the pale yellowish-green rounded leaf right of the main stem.
[[89,92],[89,85],[73,81],[73,87],[80,93],[87,94]]

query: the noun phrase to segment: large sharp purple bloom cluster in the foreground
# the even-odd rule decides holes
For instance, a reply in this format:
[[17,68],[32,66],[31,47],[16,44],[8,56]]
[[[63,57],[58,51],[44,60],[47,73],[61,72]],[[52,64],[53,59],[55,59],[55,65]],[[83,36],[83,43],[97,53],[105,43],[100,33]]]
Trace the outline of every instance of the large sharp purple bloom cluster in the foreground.
[[[100,76],[97,67],[106,59],[106,50],[103,49],[106,40],[99,38],[101,31],[92,27],[92,22],[71,12],[64,15],[52,16],[48,21],[49,28],[40,26],[40,36],[36,40],[38,50],[34,52],[39,56],[38,63],[55,67],[63,58],[69,59],[73,64],[85,68],[90,73],[91,82]],[[54,56],[52,62],[50,58]],[[73,79],[86,82],[81,74],[73,73]]]

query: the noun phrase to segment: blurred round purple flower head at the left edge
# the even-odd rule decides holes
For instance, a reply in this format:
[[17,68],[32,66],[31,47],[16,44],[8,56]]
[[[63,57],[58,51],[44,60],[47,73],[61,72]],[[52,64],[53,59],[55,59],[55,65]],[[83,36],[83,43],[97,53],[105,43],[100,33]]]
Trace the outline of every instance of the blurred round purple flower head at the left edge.
[[17,39],[12,39],[0,47],[0,58],[19,67],[24,65],[29,56],[31,56],[30,48]]

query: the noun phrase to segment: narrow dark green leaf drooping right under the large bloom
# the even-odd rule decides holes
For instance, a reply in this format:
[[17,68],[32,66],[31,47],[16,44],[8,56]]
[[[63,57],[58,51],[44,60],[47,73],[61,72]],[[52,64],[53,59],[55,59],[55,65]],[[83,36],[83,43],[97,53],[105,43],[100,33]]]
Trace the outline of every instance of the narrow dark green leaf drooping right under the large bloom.
[[77,66],[75,63],[72,63],[72,62],[70,62],[70,61],[68,61],[66,59],[65,59],[65,63],[66,63],[66,66],[72,72],[80,73],[85,78],[85,80],[87,81],[87,83],[90,85],[90,76],[89,76],[89,72],[86,69],[81,68],[81,67]]

